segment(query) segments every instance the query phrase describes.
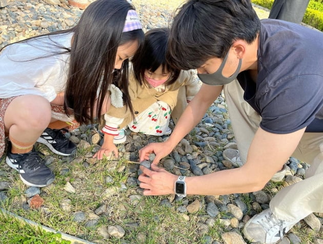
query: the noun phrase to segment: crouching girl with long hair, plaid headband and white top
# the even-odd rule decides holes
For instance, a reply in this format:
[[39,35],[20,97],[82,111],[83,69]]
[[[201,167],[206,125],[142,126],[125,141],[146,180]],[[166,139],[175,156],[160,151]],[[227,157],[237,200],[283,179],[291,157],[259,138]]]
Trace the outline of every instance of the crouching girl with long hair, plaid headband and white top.
[[139,18],[126,0],[97,0],[78,24],[0,50],[0,155],[24,183],[43,187],[53,172],[33,145],[56,154],[76,151],[60,128],[87,124],[110,106],[113,83],[123,88],[129,112],[128,59],[144,42]]

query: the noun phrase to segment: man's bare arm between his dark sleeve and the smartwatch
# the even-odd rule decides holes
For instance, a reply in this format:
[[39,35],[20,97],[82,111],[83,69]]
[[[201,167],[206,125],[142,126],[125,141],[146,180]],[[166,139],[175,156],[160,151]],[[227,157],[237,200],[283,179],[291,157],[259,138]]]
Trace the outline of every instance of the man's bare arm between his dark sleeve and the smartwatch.
[[242,167],[205,176],[187,177],[187,194],[224,195],[263,189],[294,152],[305,128],[290,134],[273,134],[258,128]]

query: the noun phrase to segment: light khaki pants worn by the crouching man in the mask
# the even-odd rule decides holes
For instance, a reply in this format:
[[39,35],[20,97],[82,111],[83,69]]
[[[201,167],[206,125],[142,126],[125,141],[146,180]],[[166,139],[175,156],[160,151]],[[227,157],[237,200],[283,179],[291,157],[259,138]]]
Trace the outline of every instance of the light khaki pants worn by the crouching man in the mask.
[[[245,163],[261,117],[243,99],[243,92],[236,80],[224,86],[232,130]],[[323,133],[304,133],[291,156],[311,164],[306,179],[279,191],[270,209],[279,219],[296,221],[313,212],[323,212]]]

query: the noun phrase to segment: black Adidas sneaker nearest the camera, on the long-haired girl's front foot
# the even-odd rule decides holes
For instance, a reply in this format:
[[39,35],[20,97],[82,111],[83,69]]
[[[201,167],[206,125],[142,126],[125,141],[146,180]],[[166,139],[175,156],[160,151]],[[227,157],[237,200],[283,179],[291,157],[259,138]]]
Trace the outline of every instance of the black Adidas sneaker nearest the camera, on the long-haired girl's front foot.
[[55,175],[45,165],[41,155],[42,153],[35,151],[34,148],[29,153],[13,154],[9,142],[6,163],[19,172],[20,178],[26,185],[45,187],[54,181]]

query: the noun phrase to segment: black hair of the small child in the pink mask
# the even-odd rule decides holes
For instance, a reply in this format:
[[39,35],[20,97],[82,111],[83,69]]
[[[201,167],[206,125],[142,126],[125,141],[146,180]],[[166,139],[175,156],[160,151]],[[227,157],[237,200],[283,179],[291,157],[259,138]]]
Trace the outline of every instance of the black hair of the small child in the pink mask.
[[180,69],[173,68],[166,60],[168,36],[168,28],[155,28],[146,32],[142,50],[137,50],[131,60],[134,76],[141,85],[145,84],[145,71],[154,72],[160,65],[163,72],[167,70],[171,74],[166,85],[178,79]]

